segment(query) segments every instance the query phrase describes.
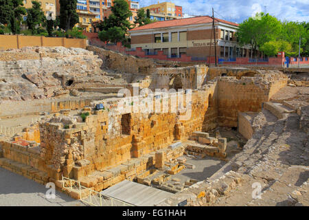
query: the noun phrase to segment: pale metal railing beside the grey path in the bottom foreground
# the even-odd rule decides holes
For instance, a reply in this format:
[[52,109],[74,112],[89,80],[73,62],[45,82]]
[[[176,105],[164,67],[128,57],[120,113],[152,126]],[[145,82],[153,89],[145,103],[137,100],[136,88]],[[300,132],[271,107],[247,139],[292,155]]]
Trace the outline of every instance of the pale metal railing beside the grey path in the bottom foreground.
[[104,195],[102,192],[91,190],[80,184],[80,181],[69,179],[62,176],[62,188],[67,188],[71,191],[78,192],[80,201],[89,204],[90,206],[135,206],[120,199],[115,199],[111,196]]

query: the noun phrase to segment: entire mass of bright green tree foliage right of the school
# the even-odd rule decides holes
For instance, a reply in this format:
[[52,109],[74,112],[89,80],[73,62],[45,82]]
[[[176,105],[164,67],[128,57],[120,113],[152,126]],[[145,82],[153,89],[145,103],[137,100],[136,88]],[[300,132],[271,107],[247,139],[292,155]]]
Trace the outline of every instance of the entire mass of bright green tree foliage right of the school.
[[260,50],[268,56],[275,56],[279,51],[295,56],[301,37],[301,52],[308,54],[308,23],[282,22],[269,14],[260,13],[240,23],[237,36],[241,45],[249,44],[253,50]]

